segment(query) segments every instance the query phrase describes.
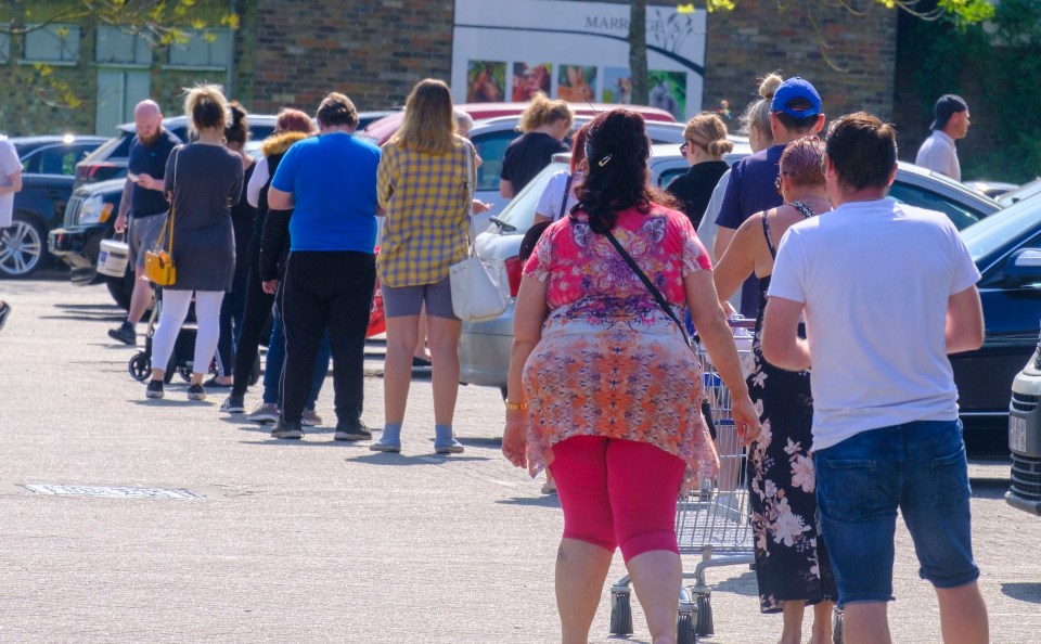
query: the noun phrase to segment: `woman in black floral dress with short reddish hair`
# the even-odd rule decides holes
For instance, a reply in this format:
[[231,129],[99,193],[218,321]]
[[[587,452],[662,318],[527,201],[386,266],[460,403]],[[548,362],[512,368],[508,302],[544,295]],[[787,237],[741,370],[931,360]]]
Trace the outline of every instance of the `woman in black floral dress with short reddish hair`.
[[810,453],[813,398],[809,372],[784,371],[762,359],[760,335],[777,244],[788,227],[831,210],[821,170],[824,143],[799,139],[781,156],[777,190],[785,205],[745,221],[716,267],[716,289],[729,298],[755,271],[761,301],[753,344],[755,369],[748,390],[762,433],[748,453],[756,576],[763,613],[783,613],[780,642],[801,642],[805,606],[814,606],[814,644],[832,641],[831,613],[838,590],[819,538],[815,477]]

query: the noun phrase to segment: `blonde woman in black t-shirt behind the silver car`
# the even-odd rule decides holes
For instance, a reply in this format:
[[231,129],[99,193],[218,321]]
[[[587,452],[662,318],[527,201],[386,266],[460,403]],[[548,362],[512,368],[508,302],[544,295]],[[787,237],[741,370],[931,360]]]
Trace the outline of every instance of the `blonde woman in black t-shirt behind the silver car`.
[[502,158],[499,194],[512,199],[528,181],[553,160],[557,152],[567,152],[564,138],[575,115],[564,101],[551,101],[542,92],[537,92],[520,114],[520,131],[524,132],[510,142]]

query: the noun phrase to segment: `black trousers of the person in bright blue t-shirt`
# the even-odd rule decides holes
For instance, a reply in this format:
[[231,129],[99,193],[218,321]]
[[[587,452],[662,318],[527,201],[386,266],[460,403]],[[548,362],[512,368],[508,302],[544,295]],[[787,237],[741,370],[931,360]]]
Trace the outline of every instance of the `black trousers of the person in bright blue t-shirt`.
[[285,327],[282,421],[299,422],[314,377],[314,360],[329,327],[336,418],[361,418],[364,402],[365,332],[376,286],[372,253],[290,253],[280,288]]

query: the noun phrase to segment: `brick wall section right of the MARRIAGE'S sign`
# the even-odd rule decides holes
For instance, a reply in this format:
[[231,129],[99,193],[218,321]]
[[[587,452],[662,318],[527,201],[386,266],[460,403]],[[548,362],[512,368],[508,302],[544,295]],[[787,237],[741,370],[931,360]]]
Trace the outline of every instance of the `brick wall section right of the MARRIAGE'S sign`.
[[891,118],[897,12],[870,4],[861,17],[814,10],[825,47],[797,2],[779,13],[774,0],[742,0],[733,12],[709,14],[704,106],[725,99],[736,117],[758,98],[756,79],[780,70],[812,82],[830,117],[866,110]]

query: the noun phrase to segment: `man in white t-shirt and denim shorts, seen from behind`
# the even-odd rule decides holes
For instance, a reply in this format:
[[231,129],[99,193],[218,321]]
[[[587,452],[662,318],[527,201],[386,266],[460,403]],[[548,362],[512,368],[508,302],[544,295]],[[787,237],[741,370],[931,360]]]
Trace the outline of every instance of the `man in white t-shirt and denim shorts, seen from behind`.
[[[763,357],[812,366],[821,532],[848,644],[890,642],[899,508],[940,605],[943,641],[987,642],[969,529],[968,468],[948,353],[979,348],[973,263],[940,212],[887,198],[892,126],[864,113],[828,132],[835,210],[792,227],[777,250]],[[807,340],[796,330],[805,315]]]

